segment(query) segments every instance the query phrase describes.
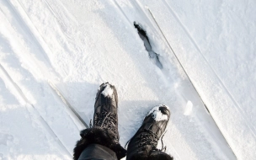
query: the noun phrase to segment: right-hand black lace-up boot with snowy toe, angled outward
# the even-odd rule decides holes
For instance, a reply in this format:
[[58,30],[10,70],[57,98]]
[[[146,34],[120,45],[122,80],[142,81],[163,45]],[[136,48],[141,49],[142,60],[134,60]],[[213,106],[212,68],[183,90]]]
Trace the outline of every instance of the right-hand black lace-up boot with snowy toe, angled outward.
[[126,159],[173,159],[173,157],[157,149],[157,141],[163,135],[169,118],[170,111],[167,106],[161,104],[154,107],[143,120],[135,136],[131,138]]

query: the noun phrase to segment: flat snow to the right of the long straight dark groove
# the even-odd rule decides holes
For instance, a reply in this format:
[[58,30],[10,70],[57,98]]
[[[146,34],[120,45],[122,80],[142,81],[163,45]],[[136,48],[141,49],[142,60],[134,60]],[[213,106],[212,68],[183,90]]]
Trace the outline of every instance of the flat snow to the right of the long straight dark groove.
[[[184,2],[171,1],[150,4],[237,158],[255,157],[256,131],[253,117],[256,109],[253,108],[255,92],[252,89],[255,88],[252,81],[255,47],[251,46],[255,44],[256,33],[255,23],[250,23],[255,22],[255,11],[252,8],[255,3],[211,2],[207,3],[207,7],[204,3],[197,3],[193,7],[194,3],[184,5]],[[180,7],[190,9],[183,10]],[[162,12],[157,13],[160,8]],[[247,12],[240,12],[245,8]],[[193,20],[189,19],[188,15],[193,15],[190,12],[197,15]],[[167,18],[168,21],[165,20]],[[244,60],[248,64],[244,64]],[[248,77],[247,80],[245,77]]]

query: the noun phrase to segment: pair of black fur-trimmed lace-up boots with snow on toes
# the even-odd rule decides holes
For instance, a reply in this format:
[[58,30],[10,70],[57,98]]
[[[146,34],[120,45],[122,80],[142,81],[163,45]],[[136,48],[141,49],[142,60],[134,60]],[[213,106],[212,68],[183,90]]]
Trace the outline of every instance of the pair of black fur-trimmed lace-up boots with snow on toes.
[[[97,154],[104,152],[109,153],[109,157],[104,159],[121,159],[125,156],[127,160],[173,159],[157,149],[157,141],[163,135],[170,118],[168,107],[159,105],[149,112],[135,136],[131,138],[127,152],[119,143],[117,108],[118,96],[115,86],[109,83],[101,84],[94,104],[93,126],[80,132],[81,139],[74,148],[75,160],[102,159],[97,158]],[[93,150],[99,152],[92,153]],[[97,156],[83,158],[82,154],[88,153]],[[111,153],[114,156],[111,156]]]

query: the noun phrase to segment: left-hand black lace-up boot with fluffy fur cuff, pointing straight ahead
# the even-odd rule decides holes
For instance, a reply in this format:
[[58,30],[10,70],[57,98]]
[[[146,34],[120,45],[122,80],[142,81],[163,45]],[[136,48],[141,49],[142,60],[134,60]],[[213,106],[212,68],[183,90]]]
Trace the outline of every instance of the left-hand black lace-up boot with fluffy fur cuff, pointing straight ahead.
[[109,83],[101,84],[94,104],[93,126],[80,132],[81,140],[77,141],[74,148],[74,160],[91,144],[108,147],[115,152],[118,159],[125,157],[126,150],[119,143],[117,108],[115,86]]

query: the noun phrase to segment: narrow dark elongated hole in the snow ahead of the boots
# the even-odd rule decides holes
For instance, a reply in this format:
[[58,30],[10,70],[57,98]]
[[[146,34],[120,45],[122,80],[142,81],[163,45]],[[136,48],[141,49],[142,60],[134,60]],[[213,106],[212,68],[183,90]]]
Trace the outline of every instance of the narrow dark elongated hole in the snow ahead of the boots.
[[138,30],[138,34],[140,35],[141,40],[143,40],[144,42],[144,46],[146,48],[146,51],[148,52],[148,56],[155,61],[157,67],[162,69],[163,65],[159,60],[160,55],[157,54],[155,51],[152,51],[152,45],[150,45],[149,39],[147,37],[147,32],[144,29],[142,29],[141,24],[137,24],[136,22],[134,22],[134,26]]

